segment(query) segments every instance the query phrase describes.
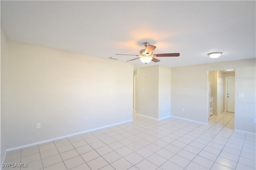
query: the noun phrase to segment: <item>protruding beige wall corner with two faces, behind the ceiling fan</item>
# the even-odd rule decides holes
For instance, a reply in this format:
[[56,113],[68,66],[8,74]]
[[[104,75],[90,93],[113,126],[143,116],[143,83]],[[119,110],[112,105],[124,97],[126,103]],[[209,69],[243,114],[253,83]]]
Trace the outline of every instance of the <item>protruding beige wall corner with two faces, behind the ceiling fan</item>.
[[171,68],[161,65],[137,69],[137,113],[156,119],[170,116]]

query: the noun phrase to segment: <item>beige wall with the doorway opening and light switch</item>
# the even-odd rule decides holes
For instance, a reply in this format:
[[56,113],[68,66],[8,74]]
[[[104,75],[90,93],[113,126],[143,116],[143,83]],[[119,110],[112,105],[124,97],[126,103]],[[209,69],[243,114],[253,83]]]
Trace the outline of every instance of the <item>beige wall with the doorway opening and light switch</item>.
[[[255,58],[186,67],[172,68],[171,115],[208,122],[207,82],[208,71],[234,68],[235,79],[235,129],[255,133],[252,123],[256,113]],[[244,98],[238,98],[244,93]],[[182,112],[182,108],[185,109]]]

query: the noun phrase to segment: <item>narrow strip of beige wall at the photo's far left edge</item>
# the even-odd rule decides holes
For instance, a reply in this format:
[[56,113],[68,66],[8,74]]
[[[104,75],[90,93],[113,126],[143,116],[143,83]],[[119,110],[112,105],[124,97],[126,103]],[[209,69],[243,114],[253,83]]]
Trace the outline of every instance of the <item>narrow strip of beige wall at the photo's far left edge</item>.
[[7,40],[1,28],[1,115],[0,115],[0,161],[3,162],[4,153],[6,152],[6,131],[5,131],[5,89],[6,89],[6,56],[7,56]]

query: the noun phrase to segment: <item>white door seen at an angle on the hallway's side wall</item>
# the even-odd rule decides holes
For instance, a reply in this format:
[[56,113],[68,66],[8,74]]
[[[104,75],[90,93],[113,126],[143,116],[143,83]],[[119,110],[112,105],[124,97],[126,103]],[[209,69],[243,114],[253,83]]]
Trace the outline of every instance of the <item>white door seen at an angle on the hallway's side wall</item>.
[[224,100],[224,79],[218,77],[217,79],[217,115],[223,112],[223,100]]

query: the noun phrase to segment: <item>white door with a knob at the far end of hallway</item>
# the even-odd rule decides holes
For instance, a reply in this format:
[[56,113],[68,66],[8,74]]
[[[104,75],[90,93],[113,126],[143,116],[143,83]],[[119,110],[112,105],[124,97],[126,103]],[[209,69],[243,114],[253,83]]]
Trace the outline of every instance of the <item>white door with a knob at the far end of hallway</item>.
[[235,112],[235,78],[227,78],[227,112]]

